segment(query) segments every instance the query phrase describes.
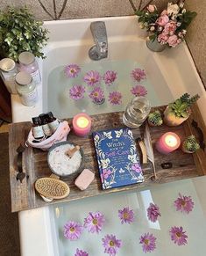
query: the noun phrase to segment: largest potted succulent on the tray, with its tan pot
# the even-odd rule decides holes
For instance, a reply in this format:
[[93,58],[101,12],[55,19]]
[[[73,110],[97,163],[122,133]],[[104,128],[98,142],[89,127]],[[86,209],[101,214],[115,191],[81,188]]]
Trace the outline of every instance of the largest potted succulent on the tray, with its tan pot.
[[196,94],[190,98],[188,93],[184,93],[181,98],[170,103],[164,111],[164,122],[168,126],[178,126],[186,121],[191,113],[190,106],[195,103],[200,96]]

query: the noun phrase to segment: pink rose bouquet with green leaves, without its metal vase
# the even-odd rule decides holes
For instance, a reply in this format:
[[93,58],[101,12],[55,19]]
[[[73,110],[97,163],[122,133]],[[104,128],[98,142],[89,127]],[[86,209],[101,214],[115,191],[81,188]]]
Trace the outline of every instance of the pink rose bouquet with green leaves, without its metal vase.
[[140,28],[149,32],[148,40],[157,40],[161,45],[175,48],[184,40],[186,28],[195,18],[195,11],[186,11],[184,3],[168,3],[167,9],[159,12],[156,5],[148,5],[146,10],[137,11]]

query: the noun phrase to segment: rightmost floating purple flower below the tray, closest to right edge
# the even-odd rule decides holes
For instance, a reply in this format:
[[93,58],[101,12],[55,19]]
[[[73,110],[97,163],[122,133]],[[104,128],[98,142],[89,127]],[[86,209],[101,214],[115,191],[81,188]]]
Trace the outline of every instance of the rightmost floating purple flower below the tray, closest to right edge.
[[179,197],[174,201],[174,206],[176,210],[180,210],[181,212],[186,212],[187,214],[193,210],[194,202],[191,199],[191,196],[181,195],[179,193]]

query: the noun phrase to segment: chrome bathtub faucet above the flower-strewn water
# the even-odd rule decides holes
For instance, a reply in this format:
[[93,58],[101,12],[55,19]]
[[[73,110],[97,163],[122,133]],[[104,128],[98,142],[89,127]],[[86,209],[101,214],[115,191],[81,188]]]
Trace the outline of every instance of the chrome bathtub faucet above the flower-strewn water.
[[93,61],[107,58],[108,42],[105,23],[103,21],[92,22],[90,29],[96,44],[89,49],[89,58]]

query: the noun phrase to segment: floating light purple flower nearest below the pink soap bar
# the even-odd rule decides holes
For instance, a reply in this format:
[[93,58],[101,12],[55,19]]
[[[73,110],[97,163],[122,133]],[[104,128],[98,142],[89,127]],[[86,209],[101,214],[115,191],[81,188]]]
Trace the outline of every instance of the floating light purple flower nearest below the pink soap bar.
[[84,219],[84,228],[91,233],[99,233],[105,223],[104,216],[101,212],[89,212],[89,216]]

